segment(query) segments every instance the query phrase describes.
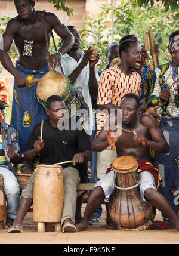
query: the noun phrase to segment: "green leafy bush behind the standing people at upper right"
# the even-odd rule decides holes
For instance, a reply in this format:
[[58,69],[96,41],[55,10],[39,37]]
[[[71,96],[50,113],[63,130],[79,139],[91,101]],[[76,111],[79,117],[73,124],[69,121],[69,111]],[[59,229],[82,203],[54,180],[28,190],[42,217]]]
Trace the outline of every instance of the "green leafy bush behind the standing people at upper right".
[[[107,27],[104,24],[100,26],[95,26],[98,20],[103,20],[109,23],[107,20],[109,14],[113,10],[113,26]],[[159,44],[160,54],[159,54],[159,64],[163,64],[171,60],[171,56],[168,52],[168,38],[172,31],[179,29],[179,14],[178,12],[171,13],[169,10],[165,11],[165,8],[161,4],[155,4],[155,6],[147,5],[144,7],[138,7],[135,5],[134,1],[113,1],[112,5],[101,5],[100,14],[98,18],[87,17],[86,26],[90,27],[88,30],[82,30],[82,36],[85,44],[93,44],[100,48],[100,63],[98,64],[100,69],[106,66],[106,50],[108,44],[112,41],[119,42],[119,40],[129,34],[137,35],[141,43],[144,43],[144,32],[149,29],[153,30],[153,36],[155,42]],[[102,26],[102,27],[101,27]],[[113,31],[112,31],[113,30]],[[105,41],[105,47],[103,43],[98,44],[97,35],[101,35],[103,31],[103,37],[100,38],[101,41]],[[113,35],[113,38],[112,38]],[[89,41],[89,38],[93,40]],[[106,38],[106,40],[104,39]],[[99,40],[99,42],[100,42]],[[149,44],[149,42],[148,42]],[[84,45],[82,45],[84,46]],[[148,50],[150,50],[150,45]],[[148,51],[149,53],[149,51]],[[152,57],[149,53],[149,61],[152,62]]]

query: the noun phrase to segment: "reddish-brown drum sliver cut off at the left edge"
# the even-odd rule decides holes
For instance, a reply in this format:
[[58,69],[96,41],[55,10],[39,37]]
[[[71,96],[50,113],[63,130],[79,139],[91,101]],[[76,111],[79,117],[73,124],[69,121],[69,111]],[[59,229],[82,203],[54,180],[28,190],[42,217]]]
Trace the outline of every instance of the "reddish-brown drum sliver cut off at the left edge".
[[0,174],[0,229],[4,229],[4,220],[6,218],[6,202],[4,194],[4,178]]

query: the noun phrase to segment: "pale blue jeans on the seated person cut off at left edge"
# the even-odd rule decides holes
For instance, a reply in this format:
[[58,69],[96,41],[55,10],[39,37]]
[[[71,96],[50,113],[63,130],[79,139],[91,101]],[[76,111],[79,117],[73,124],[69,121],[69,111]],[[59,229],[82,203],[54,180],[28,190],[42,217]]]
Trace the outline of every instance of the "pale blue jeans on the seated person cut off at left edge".
[[20,187],[13,172],[5,167],[0,167],[0,174],[4,178],[4,193],[7,199],[7,216],[15,219],[17,217],[20,203]]

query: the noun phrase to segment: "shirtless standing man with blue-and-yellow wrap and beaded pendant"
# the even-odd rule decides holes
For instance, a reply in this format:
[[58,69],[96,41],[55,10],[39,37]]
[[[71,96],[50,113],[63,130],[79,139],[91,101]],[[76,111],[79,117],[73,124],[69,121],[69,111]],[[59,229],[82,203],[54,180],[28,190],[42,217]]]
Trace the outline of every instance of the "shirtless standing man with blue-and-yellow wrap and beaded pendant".
[[[30,84],[30,81],[42,78],[49,70],[47,41],[49,43],[51,32],[54,29],[57,35],[64,39],[57,53],[50,56],[51,66],[60,64],[61,55],[70,50],[75,39],[55,14],[36,11],[35,1],[14,0],[14,5],[18,16],[11,18],[2,35],[0,60],[5,69],[14,76],[11,124],[18,132],[23,153],[33,127],[42,119],[48,119],[44,107],[36,98],[37,82]],[[16,67],[7,53],[13,40],[19,53]]]

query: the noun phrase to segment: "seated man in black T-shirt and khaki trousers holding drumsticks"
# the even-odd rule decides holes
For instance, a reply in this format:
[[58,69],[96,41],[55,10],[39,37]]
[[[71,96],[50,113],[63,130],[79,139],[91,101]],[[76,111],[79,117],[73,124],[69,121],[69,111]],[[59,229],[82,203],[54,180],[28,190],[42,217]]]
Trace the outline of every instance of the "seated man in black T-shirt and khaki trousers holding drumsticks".
[[[75,209],[76,209],[76,187],[80,177],[76,164],[90,161],[92,157],[91,143],[84,129],[58,129],[59,122],[64,124],[65,104],[61,97],[53,95],[47,99],[47,115],[50,119],[44,121],[43,140],[41,141],[41,124],[36,125],[30,134],[29,140],[24,151],[24,158],[33,160],[38,152],[40,153],[39,163],[53,165],[58,162],[73,160],[73,164],[62,164],[63,183],[64,183],[64,206],[62,214],[63,232],[76,232]],[[63,120],[63,121],[61,121]],[[70,121],[70,119],[69,119]],[[29,182],[24,187],[21,194],[20,207],[13,226],[8,233],[22,232],[22,221],[33,203],[33,185],[35,172],[32,173]]]

